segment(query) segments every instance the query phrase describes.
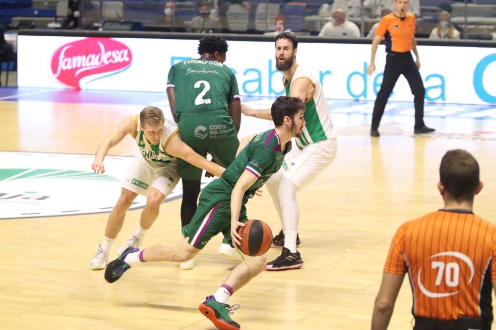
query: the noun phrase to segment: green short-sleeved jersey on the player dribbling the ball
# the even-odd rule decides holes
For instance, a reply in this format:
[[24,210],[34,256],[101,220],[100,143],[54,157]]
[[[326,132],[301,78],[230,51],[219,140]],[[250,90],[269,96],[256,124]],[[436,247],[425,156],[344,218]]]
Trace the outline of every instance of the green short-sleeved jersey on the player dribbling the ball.
[[243,198],[245,204],[257,189],[279,171],[284,155],[290,150],[291,141],[286,145],[286,150],[281,150],[281,139],[275,129],[259,133],[240,151],[218,180],[232,191],[245,170],[256,176],[255,183],[245,192]]

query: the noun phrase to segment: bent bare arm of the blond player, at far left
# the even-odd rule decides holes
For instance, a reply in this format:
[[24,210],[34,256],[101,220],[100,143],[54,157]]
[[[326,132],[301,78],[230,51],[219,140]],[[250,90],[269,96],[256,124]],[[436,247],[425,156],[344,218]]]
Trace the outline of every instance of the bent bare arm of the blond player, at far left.
[[95,159],[91,164],[91,169],[93,172],[102,174],[105,173],[105,166],[103,165],[103,159],[107,156],[110,148],[112,148],[117,143],[121,142],[126,134],[134,135],[136,132],[136,116],[127,116],[121,123],[110,132],[110,134],[105,138],[102,143],[98,146],[95,153]]

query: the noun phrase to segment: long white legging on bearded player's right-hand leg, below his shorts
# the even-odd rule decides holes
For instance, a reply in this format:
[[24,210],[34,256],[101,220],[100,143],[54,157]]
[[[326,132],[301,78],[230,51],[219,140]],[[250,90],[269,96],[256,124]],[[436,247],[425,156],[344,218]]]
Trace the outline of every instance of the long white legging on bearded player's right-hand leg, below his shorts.
[[284,247],[296,253],[296,236],[298,235],[298,221],[300,209],[296,201],[298,186],[289,179],[282,179],[278,195],[281,201],[282,228],[284,230]]

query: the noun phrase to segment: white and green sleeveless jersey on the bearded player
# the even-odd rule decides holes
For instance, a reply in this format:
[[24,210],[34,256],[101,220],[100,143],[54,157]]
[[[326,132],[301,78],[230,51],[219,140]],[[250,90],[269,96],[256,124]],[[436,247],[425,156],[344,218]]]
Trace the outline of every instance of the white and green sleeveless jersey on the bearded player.
[[329,112],[329,104],[320,86],[320,81],[316,75],[310,70],[304,69],[301,65],[296,68],[295,74],[291,81],[284,78],[284,87],[286,95],[290,95],[290,88],[298,79],[307,79],[315,88],[313,96],[305,100],[305,121],[302,137],[296,139],[296,144],[299,148],[304,148],[306,145],[336,138],[334,125],[332,124],[331,114]]

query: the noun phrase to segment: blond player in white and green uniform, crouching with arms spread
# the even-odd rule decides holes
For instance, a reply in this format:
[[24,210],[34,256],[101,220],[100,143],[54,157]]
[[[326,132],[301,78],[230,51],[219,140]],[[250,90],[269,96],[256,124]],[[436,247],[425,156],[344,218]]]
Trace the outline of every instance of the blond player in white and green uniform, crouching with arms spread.
[[122,229],[124,216],[138,194],[146,195],[146,206],[141,212],[138,229],[118,249],[121,254],[127,247],[138,247],[143,236],[158,216],[159,205],[172,192],[179,181],[177,159],[200,167],[220,177],[224,168],[198,155],[179,136],[178,126],[165,120],[162,110],[147,106],[139,115],[127,116],[98,146],[91,168],[104,173],[103,160],[109,149],[130,135],[138,145],[122,184],[116,206],[109,215],[103,241],[90,261],[90,269],[104,269],[109,261],[109,251]]

